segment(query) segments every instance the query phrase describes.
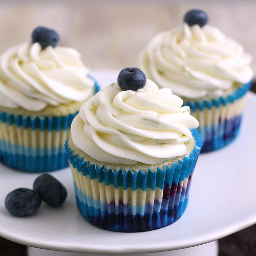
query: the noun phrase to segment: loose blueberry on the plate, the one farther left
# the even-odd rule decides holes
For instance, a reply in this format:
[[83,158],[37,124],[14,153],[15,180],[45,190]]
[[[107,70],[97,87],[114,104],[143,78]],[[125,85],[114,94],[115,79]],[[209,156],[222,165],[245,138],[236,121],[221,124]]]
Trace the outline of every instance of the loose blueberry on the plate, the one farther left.
[[5,198],[5,207],[14,216],[30,216],[39,209],[40,205],[39,194],[29,188],[17,188]]

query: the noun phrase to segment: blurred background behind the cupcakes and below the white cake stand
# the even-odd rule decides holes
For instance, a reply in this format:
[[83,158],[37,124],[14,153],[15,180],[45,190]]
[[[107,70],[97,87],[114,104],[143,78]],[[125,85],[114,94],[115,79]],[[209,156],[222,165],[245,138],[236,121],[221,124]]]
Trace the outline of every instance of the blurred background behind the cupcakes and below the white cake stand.
[[[61,46],[77,49],[92,70],[133,67],[147,42],[179,26],[191,8],[205,10],[208,24],[244,46],[256,74],[255,0],[0,0],[0,53],[45,26],[59,33]],[[220,256],[256,255],[256,226],[219,242]],[[0,238],[0,255],[25,256],[26,247]]]

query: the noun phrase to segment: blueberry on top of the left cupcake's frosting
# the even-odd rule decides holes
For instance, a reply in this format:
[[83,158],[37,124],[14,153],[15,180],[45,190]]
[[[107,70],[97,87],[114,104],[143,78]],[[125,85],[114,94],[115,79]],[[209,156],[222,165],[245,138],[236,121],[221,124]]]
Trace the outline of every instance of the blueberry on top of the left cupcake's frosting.
[[56,31],[45,27],[37,27],[32,32],[32,42],[39,42],[42,49],[48,46],[55,47],[58,45],[59,36]]

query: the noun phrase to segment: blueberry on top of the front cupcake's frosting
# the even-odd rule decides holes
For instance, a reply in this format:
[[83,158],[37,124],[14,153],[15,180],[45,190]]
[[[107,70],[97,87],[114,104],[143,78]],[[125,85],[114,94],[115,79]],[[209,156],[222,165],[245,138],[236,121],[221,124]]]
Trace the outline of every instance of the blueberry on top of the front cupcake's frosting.
[[120,71],[117,83],[123,90],[137,91],[145,86],[146,76],[138,68],[125,68]]

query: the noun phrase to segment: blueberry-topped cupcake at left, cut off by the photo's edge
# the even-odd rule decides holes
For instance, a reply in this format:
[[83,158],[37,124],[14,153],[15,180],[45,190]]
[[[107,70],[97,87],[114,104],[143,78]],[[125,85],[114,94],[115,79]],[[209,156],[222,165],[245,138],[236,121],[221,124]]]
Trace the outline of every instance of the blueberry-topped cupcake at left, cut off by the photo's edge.
[[25,172],[69,165],[64,144],[84,101],[98,90],[80,54],[37,27],[0,56],[0,161]]

